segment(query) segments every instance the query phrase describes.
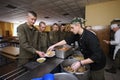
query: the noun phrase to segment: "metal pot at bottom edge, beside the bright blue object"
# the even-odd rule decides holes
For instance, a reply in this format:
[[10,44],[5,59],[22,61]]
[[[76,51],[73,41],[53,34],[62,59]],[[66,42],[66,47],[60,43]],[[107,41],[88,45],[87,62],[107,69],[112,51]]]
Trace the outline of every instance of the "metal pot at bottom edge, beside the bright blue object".
[[70,73],[55,73],[55,80],[78,80],[76,76]]

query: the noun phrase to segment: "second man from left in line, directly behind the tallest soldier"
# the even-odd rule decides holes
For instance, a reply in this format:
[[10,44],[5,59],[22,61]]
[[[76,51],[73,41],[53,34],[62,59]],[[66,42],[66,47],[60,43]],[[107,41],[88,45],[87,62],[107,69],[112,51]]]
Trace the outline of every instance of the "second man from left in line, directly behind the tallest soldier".
[[41,21],[39,23],[39,50],[43,52],[46,52],[49,46],[49,37],[45,29],[46,23]]

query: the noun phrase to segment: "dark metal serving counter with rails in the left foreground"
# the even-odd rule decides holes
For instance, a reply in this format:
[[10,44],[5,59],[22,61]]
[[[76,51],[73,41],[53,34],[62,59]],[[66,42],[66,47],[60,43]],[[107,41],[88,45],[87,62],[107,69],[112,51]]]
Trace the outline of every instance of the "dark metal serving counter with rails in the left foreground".
[[59,59],[56,57],[48,58],[44,63],[39,63],[39,65],[36,68],[31,70],[24,70],[24,73],[17,75],[16,77],[12,78],[12,80],[31,80],[32,78],[41,77],[44,74],[53,71],[62,61],[63,59]]

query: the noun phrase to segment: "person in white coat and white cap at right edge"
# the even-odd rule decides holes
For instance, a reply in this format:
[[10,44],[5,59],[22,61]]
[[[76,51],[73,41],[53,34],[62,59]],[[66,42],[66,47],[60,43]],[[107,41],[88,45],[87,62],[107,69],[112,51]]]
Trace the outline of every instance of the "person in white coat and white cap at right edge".
[[117,69],[120,69],[120,27],[118,24],[112,24],[111,29],[115,32],[114,39],[111,41],[103,40],[105,43],[115,45],[113,55],[113,65],[110,69],[106,69],[107,72],[116,73]]

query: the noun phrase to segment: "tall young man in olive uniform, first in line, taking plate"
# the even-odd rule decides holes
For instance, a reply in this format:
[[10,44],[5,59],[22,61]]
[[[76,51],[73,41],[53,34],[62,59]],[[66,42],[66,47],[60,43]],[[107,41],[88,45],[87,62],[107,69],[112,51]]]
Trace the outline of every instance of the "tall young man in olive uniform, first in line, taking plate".
[[38,33],[34,27],[37,14],[34,11],[27,13],[27,22],[18,26],[18,37],[20,41],[20,54],[18,66],[22,66],[29,61],[35,60],[36,55],[44,57],[44,52],[38,51]]

